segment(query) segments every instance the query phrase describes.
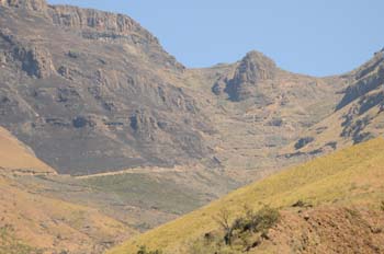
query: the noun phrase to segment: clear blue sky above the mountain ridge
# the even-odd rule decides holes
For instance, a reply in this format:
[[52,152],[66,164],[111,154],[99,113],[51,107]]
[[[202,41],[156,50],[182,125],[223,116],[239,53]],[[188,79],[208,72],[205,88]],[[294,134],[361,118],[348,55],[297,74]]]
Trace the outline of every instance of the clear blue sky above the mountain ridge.
[[188,67],[256,49],[283,69],[349,71],[384,47],[384,0],[48,0],[124,13]]

